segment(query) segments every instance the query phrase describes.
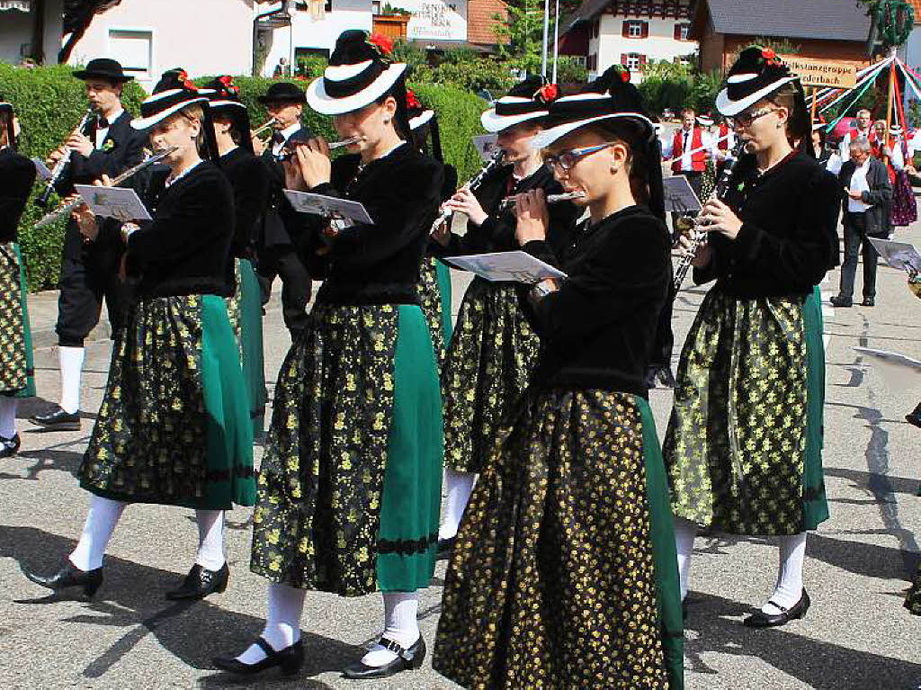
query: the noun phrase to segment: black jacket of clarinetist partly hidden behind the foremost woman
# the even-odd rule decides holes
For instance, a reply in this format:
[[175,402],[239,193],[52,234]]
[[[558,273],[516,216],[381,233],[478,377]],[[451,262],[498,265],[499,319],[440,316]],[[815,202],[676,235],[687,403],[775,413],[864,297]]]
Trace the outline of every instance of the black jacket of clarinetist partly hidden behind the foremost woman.
[[[467,234],[463,237],[451,235],[449,245],[441,256],[458,256],[461,254],[483,254],[491,251],[519,250],[515,237],[515,211],[499,211],[500,202],[507,196],[542,189],[545,194],[559,194],[563,187],[554,180],[554,174],[546,166],[541,166],[534,174],[518,183],[512,182],[512,166],[507,165],[486,175],[473,195],[489,214],[483,225],[467,224]],[[560,202],[550,206],[550,231],[548,241],[554,251],[567,244],[572,228],[581,210],[570,202]]]

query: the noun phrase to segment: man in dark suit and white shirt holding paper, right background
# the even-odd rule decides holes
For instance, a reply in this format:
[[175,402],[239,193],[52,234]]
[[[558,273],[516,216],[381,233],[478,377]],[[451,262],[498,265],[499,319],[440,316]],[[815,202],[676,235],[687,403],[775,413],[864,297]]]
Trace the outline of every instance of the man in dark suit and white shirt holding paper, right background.
[[835,307],[853,304],[854,275],[857,273],[857,253],[863,249],[864,287],[863,305],[876,303],[877,251],[869,238],[886,238],[892,228],[889,206],[892,203],[892,185],[886,166],[871,155],[870,144],[858,139],[850,145],[851,159],[838,173],[845,190],[844,226],[845,261],[841,265],[841,288],[832,298]]

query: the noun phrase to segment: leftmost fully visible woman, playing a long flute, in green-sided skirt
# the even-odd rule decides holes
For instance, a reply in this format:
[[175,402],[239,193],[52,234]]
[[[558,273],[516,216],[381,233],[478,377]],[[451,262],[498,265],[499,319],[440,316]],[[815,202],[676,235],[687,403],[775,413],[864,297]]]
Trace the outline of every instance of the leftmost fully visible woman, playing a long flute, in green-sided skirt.
[[[155,89],[156,90],[156,89]],[[50,576],[27,573],[52,590],[102,583],[102,556],[130,503],[195,509],[195,563],[168,599],[201,599],[227,588],[224,511],[255,501],[252,425],[239,354],[224,298],[233,239],[233,192],[216,165],[207,99],[167,88],[141,104],[138,131],[149,130],[167,170],[150,175],[153,219],[99,225],[86,206],[81,233],[119,233],[136,299],[118,333],[99,416],[80,465],[91,494],[76,549]]]

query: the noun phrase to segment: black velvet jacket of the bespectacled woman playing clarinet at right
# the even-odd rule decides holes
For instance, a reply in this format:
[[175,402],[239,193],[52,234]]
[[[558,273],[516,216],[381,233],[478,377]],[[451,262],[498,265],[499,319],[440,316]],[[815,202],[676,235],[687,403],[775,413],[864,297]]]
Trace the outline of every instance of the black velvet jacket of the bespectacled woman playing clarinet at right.
[[764,175],[755,158],[740,158],[727,204],[742,227],[735,240],[711,233],[713,261],[694,269],[698,285],[743,299],[809,295],[838,260],[838,181],[803,153],[794,153]]

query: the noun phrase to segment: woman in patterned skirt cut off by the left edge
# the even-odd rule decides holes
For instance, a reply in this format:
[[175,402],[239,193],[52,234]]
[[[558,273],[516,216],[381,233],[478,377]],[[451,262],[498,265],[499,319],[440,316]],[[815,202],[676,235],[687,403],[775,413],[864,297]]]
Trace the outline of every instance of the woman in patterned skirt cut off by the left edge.
[[0,97],[0,458],[19,450],[17,403],[35,395],[26,266],[17,243],[35,166],[16,152],[16,125],[13,105]]

